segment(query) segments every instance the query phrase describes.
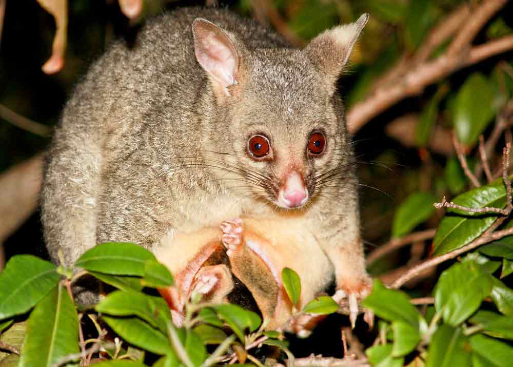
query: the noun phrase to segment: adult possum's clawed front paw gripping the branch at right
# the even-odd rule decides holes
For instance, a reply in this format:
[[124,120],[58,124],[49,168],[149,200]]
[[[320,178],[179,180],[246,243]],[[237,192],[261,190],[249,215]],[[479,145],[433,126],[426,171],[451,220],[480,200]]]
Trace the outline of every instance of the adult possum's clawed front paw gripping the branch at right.
[[[371,289],[372,280],[366,276],[359,282],[346,282],[332,297],[333,300],[342,307],[344,313],[349,314],[349,321],[353,328],[360,314],[360,302],[370,294]],[[362,312],[364,313],[364,321],[372,329],[374,325],[374,314],[365,309],[363,309]]]

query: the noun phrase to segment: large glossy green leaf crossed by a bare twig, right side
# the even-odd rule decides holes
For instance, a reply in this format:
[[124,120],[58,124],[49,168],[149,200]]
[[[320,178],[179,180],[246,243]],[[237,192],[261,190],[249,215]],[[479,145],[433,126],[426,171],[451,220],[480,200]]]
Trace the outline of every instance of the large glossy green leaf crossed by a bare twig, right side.
[[[506,206],[506,189],[502,180],[496,180],[489,185],[464,192],[453,202],[471,208],[503,208]],[[433,255],[442,255],[463,247],[479,237],[496,219],[497,215],[448,209],[433,239]]]

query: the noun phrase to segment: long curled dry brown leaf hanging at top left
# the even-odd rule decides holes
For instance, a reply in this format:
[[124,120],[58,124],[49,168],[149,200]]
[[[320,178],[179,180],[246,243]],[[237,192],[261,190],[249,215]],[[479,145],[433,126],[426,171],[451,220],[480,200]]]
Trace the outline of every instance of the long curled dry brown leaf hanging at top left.
[[67,0],[37,0],[37,2],[55,19],[55,37],[53,38],[52,55],[43,65],[47,74],[60,71],[64,66],[64,52],[66,51],[66,37],[68,28],[68,1]]

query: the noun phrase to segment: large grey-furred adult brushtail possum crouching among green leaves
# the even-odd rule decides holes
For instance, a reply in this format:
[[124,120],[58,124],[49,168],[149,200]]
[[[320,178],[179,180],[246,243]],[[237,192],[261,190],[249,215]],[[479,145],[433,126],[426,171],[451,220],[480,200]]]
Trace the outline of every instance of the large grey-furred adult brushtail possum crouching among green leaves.
[[[226,223],[244,217],[270,244],[255,254],[282,251],[307,298],[334,277],[354,321],[370,281],[337,82],[367,19],[297,49],[227,10],[184,8],[150,21],[134,45],[114,44],[49,149],[42,222],[54,261],[135,242],[180,273],[221,223],[211,233],[235,261],[250,242]],[[294,246],[275,246],[291,233]]]

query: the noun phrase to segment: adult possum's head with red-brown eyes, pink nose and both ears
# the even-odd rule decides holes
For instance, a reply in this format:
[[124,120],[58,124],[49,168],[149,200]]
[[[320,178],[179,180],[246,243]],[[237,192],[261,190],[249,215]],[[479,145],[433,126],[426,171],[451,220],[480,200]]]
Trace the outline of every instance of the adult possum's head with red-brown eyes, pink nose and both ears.
[[217,106],[208,139],[222,153],[220,174],[239,180],[232,186],[282,208],[341,187],[351,150],[337,81],[367,20],[327,30],[301,50],[251,48],[194,21],[196,59]]

